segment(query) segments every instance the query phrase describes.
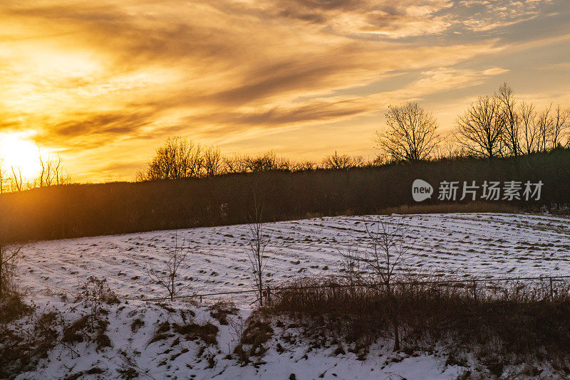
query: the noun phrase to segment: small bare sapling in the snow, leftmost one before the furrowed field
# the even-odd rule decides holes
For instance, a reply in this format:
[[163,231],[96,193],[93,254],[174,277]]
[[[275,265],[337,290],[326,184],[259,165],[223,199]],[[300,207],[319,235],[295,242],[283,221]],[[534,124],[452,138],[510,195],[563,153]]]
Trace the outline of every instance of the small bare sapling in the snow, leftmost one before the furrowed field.
[[178,283],[180,276],[185,275],[188,269],[181,272],[180,266],[185,263],[187,256],[190,254],[190,246],[187,245],[185,239],[182,244],[178,245],[178,235],[175,235],[175,245],[165,248],[166,264],[163,270],[158,270],[155,266],[147,267],[147,275],[152,281],[164,287],[170,300],[174,300],[175,295],[180,292],[181,287]]

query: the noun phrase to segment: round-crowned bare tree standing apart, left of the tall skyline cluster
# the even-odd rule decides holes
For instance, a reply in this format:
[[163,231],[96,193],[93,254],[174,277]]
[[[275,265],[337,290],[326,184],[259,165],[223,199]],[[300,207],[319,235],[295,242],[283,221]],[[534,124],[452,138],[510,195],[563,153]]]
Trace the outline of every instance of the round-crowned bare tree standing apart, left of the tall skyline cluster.
[[386,124],[388,129],[376,132],[374,140],[378,149],[395,161],[427,159],[440,142],[437,120],[418,103],[390,105]]

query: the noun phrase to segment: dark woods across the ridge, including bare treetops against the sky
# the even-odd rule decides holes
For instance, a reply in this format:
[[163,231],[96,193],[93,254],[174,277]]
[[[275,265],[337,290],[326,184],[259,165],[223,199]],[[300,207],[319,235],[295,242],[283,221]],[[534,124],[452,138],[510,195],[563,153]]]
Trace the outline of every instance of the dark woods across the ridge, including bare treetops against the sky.
[[[27,241],[246,223],[254,199],[264,205],[259,222],[400,212],[415,205],[415,179],[434,187],[416,207],[423,212],[450,211],[437,201],[442,181],[542,181],[539,201],[510,201],[509,209],[559,206],[570,202],[569,131],[570,110],[535,110],[504,84],[472,102],[445,139],[417,103],[390,106],[374,139],[380,154],[369,162],[336,152],[320,163],[271,151],[224,156],[170,137],[138,182],[80,185],[68,184],[61,159],[40,157],[43,169],[30,190],[0,196],[0,231],[5,241]],[[0,190],[3,173],[0,163]],[[13,177],[22,190],[20,176]],[[497,211],[498,203],[477,211]]]

